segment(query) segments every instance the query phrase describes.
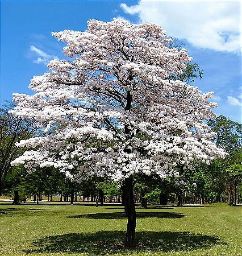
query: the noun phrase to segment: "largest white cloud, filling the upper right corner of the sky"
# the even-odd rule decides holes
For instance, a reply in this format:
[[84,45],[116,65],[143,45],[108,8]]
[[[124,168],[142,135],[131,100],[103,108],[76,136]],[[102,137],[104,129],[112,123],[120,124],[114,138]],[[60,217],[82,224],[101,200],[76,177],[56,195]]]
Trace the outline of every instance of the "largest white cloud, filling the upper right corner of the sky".
[[157,23],[169,36],[186,39],[195,47],[241,51],[240,1],[149,1],[120,5],[140,21]]

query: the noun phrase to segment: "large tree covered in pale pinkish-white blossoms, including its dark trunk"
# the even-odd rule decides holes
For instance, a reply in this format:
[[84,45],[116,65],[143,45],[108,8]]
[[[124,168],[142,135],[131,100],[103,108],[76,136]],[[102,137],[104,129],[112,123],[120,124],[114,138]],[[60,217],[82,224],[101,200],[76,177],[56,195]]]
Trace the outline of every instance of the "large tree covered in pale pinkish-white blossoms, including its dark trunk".
[[[35,76],[35,94],[14,94],[18,117],[35,118],[41,136],[20,141],[32,147],[12,165],[54,166],[70,178],[84,174],[123,182],[127,206],[126,246],[135,245],[133,176],[178,175],[177,163],[223,156],[203,122],[214,118],[212,93],[172,77],[192,58],[170,48],[156,24],[89,20],[85,32],[53,36],[66,42],[68,60],[52,60]],[[72,175],[70,170],[78,170]],[[73,172],[72,172],[73,173]]]

